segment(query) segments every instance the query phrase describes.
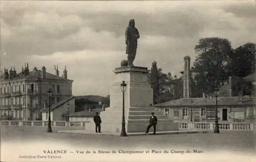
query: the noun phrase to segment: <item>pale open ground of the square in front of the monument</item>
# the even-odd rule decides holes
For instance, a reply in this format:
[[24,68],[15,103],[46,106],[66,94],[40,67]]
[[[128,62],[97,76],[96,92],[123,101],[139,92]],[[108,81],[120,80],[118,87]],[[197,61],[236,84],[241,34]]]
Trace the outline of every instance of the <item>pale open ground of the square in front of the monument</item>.
[[74,146],[106,148],[135,148],[142,146],[147,148],[164,149],[179,146],[207,150],[230,150],[239,152],[255,151],[256,141],[256,131],[222,131],[219,134],[209,132],[127,137],[113,136],[111,134],[76,134],[57,132],[58,130],[65,129],[69,130],[70,128],[53,127],[53,132],[48,133],[47,127],[2,127],[1,141],[3,143],[15,141],[23,141],[24,143],[33,141],[58,141]]

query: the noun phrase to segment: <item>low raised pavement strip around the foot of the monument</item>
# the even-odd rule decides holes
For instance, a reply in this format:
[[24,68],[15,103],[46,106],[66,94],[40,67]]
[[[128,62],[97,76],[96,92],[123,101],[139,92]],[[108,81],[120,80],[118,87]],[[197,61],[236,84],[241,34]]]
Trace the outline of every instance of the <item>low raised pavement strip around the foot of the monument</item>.
[[[120,132],[104,132],[96,133],[95,131],[89,130],[59,130],[60,133],[74,133],[74,134],[95,134],[95,135],[114,135],[120,136]],[[160,131],[156,132],[155,135],[163,135],[163,134],[188,134],[188,133],[208,133],[206,130],[172,130],[172,131]],[[127,136],[142,136],[146,135],[144,132],[131,132],[127,133]],[[148,133],[148,135],[153,135],[153,132]]]

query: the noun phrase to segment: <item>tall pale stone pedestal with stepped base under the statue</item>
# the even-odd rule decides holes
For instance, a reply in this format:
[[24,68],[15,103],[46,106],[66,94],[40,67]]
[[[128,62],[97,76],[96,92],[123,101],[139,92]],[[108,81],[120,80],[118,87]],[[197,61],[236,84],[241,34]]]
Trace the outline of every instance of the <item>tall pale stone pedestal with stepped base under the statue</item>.
[[[151,113],[158,118],[157,131],[178,130],[178,123],[170,122],[153,104],[153,90],[148,84],[145,67],[120,67],[114,70],[116,77],[110,90],[110,107],[100,113],[101,130],[105,132],[120,132],[122,122],[123,94],[120,84],[124,80],[127,84],[124,93],[124,113],[126,132],[145,132]],[[153,128],[151,128],[153,129]],[[87,124],[86,130],[94,130],[93,120]]]

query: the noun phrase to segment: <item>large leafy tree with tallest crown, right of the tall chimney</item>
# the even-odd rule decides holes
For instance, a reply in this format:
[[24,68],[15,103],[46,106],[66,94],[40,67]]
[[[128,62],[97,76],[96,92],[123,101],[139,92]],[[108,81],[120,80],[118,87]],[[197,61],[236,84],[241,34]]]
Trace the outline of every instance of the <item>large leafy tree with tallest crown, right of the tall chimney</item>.
[[229,56],[232,52],[230,42],[218,37],[202,38],[195,46],[195,51],[198,53],[194,62],[195,71],[198,73],[197,84],[203,92],[212,93],[229,76]]

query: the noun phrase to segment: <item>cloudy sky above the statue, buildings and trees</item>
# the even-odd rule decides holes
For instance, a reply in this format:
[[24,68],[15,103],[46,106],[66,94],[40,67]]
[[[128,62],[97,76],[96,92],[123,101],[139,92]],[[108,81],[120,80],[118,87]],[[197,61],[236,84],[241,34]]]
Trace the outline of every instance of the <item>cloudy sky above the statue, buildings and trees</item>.
[[58,65],[62,75],[66,65],[74,95],[108,95],[130,19],[141,35],[135,65],[179,75],[202,37],[255,43],[255,17],[255,1],[1,1],[1,66]]

